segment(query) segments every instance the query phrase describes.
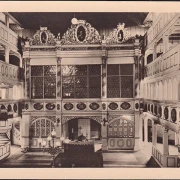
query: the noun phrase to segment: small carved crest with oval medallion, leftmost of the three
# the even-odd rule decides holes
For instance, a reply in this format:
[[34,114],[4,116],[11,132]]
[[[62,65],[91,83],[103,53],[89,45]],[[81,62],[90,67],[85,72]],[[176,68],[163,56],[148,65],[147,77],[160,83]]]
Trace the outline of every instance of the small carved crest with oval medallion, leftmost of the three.
[[33,39],[30,40],[30,45],[55,45],[55,36],[47,29],[47,27],[40,27]]

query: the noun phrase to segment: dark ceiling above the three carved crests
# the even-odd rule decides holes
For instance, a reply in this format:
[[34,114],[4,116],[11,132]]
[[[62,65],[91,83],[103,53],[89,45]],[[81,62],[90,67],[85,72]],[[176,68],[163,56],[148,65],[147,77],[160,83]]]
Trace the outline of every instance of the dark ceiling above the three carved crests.
[[48,27],[54,35],[65,33],[71,26],[71,19],[86,20],[94,28],[116,28],[117,24],[125,26],[141,25],[148,13],[79,13],[79,12],[10,12],[25,29],[38,30],[40,26]]

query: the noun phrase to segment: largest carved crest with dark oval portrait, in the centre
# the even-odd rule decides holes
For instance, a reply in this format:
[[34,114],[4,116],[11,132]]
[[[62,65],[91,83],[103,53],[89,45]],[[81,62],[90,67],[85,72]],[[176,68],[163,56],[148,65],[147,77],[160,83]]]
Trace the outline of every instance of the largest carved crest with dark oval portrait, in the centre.
[[89,23],[78,20],[66,31],[61,42],[62,44],[100,44],[101,37]]

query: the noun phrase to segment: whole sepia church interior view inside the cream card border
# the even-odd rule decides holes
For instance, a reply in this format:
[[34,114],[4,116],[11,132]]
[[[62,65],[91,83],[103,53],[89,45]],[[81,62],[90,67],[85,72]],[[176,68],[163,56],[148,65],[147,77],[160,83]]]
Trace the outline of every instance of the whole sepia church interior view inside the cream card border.
[[180,167],[180,13],[0,13],[0,167]]

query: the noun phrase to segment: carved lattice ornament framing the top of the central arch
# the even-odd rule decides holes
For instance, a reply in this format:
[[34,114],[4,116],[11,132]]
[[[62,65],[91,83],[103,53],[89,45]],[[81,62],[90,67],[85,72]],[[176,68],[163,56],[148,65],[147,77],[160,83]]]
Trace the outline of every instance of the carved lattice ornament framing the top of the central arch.
[[62,124],[65,124],[69,120],[76,119],[76,118],[93,119],[94,121],[97,121],[99,124],[101,124],[101,121],[102,121],[102,116],[63,116]]

